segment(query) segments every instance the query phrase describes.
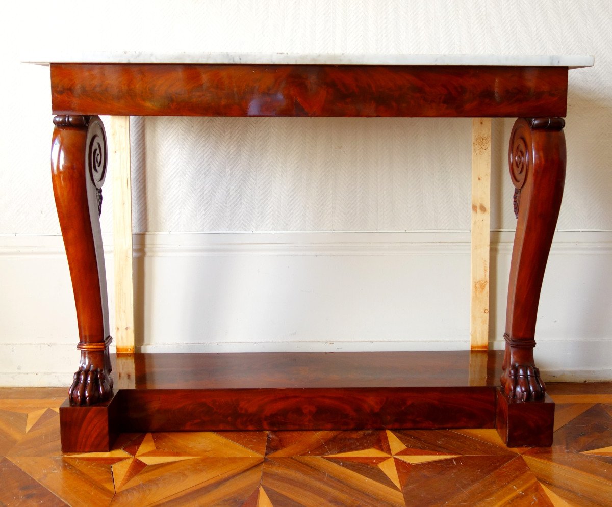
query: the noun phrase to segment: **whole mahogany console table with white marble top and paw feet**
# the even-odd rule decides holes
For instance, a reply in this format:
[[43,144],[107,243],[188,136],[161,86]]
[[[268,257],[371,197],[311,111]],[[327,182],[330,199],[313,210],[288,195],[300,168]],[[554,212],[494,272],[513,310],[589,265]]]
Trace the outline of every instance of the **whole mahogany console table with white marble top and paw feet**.
[[[568,70],[592,65],[592,57],[118,53],[41,60],[51,67],[51,171],[81,355],[60,409],[62,450],[108,450],[121,431],[230,429],[497,427],[509,446],[551,444],[554,403],[534,363],[535,322],[564,187]],[[509,144],[518,223],[503,357],[135,354],[134,388],[113,391],[99,223],[106,138],[97,115],[104,114],[518,117]],[[465,368],[482,354],[485,374],[474,383]]]

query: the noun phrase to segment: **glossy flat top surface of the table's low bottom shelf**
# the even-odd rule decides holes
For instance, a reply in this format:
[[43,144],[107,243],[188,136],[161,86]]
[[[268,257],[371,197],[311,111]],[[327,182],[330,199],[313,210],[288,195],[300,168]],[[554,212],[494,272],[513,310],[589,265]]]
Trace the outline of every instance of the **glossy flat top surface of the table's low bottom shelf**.
[[[501,350],[136,353],[136,389],[468,387],[499,385]],[[482,358],[480,383],[470,361]],[[113,357],[114,360],[114,357]]]

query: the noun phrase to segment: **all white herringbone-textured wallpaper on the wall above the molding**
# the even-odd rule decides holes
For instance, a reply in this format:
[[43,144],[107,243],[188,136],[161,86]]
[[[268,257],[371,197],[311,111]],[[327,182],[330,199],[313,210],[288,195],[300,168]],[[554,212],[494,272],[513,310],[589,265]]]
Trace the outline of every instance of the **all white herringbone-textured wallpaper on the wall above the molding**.
[[[82,2],[12,7],[0,234],[57,234],[48,68],[20,54],[75,49],[58,26],[97,26],[95,50],[594,54],[570,73],[560,229],[612,229],[612,2]],[[20,10],[21,9],[21,10]],[[61,18],[59,13],[61,12]],[[6,40],[4,40],[6,39]],[[9,43],[10,42],[10,43]],[[6,61],[5,61],[6,60]],[[136,232],[469,228],[467,119],[135,119]],[[493,123],[491,227],[512,229],[506,144]],[[111,232],[111,189],[103,230]]]

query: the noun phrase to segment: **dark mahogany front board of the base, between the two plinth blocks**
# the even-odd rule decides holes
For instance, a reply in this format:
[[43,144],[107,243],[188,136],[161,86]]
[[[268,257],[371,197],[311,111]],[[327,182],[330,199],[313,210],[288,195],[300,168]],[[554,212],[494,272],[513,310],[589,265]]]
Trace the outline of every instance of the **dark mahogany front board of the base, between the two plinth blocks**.
[[125,390],[124,431],[494,427],[494,391],[472,388]]

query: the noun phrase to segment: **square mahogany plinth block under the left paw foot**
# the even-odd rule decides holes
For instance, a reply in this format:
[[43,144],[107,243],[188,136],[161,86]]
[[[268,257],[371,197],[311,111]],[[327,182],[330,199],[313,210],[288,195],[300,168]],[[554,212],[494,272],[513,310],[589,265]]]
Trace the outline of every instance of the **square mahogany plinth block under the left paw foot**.
[[116,396],[91,407],[76,407],[65,399],[59,407],[62,453],[110,451],[118,435],[118,409]]

